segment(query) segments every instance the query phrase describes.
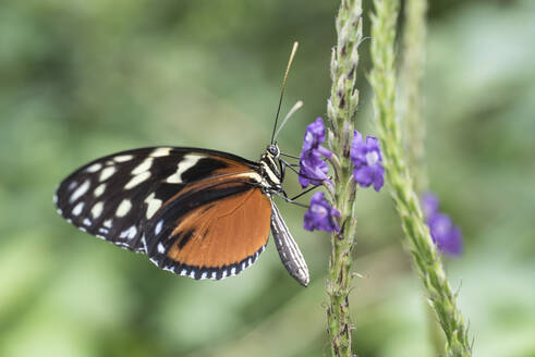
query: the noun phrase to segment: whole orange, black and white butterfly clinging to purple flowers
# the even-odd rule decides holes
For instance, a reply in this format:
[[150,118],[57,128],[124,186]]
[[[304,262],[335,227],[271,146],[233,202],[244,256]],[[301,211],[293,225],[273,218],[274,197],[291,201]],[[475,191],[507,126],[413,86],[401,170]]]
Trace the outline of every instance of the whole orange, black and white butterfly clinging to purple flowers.
[[186,147],[113,153],[74,171],[53,201],[80,230],[197,280],[236,275],[258,259],[271,231],[283,266],[306,286],[308,268],[273,202],[285,197],[273,136],[257,162]]

